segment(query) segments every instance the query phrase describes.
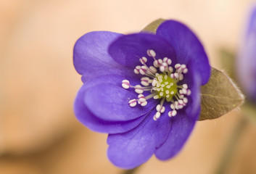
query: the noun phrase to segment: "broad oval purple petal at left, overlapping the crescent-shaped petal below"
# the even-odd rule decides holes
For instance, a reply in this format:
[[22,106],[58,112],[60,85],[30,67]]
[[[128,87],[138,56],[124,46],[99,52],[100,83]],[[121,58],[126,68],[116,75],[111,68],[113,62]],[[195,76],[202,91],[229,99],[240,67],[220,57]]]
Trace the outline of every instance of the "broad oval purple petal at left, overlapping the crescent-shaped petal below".
[[145,107],[130,107],[129,99],[137,99],[137,94],[128,91],[121,86],[112,83],[99,83],[88,88],[84,102],[88,109],[102,120],[124,121],[133,120],[141,115],[145,115],[156,104],[157,101],[150,100]]

